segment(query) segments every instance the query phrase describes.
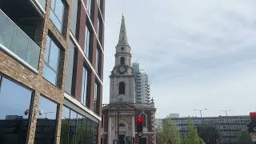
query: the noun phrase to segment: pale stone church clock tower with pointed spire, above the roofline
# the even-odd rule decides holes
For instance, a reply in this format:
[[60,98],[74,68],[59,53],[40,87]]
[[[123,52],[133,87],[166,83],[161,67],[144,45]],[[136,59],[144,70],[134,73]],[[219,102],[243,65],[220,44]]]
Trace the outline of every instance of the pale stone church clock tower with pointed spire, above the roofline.
[[115,66],[110,75],[110,103],[134,103],[135,81],[124,16],[122,16],[118,45],[115,49]]

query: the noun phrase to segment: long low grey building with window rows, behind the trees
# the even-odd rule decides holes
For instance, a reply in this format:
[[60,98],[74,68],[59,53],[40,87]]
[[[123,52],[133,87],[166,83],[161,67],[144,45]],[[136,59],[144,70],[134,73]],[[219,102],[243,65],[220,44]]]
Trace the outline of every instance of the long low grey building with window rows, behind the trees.
[[[171,118],[178,126],[181,136],[187,132],[187,124],[189,119],[195,126],[214,126],[218,131],[218,140],[223,144],[238,144],[238,135],[242,129],[246,129],[246,125],[250,122],[250,117],[242,116],[218,116],[218,117],[191,117],[191,118]],[[163,119],[162,119],[163,120]],[[162,122],[158,119],[156,125],[162,126]]]

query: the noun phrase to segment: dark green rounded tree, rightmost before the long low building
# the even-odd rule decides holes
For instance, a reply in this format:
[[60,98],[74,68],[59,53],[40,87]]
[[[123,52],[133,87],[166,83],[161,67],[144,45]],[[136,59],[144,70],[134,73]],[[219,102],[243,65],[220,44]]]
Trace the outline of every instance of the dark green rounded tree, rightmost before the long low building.
[[198,126],[198,134],[206,144],[216,144],[218,140],[218,130],[214,126]]

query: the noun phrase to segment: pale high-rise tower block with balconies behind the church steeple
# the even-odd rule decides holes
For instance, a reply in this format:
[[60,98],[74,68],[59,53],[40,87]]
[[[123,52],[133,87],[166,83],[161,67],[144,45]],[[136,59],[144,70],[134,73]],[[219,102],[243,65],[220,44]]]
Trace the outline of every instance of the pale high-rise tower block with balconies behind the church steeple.
[[139,63],[133,62],[135,75],[135,101],[136,103],[150,103],[150,85],[148,75],[139,69]]

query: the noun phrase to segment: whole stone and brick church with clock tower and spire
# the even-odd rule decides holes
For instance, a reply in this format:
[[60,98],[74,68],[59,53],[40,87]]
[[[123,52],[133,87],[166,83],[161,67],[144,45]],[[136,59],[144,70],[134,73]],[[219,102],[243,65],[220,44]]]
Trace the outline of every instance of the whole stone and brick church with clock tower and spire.
[[[102,106],[102,144],[155,144],[154,100],[135,102],[135,75],[124,16],[115,49],[115,65],[110,74],[110,103]],[[138,118],[142,119],[142,134],[138,134]]]

